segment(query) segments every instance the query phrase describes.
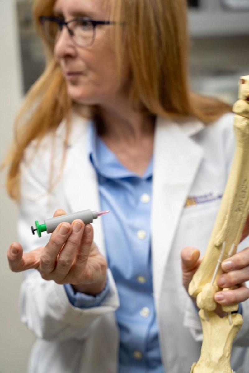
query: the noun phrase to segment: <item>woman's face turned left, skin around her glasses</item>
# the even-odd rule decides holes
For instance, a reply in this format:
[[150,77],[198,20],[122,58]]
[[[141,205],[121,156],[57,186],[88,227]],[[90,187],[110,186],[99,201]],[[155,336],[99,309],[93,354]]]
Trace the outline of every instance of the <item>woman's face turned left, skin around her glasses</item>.
[[[88,17],[97,21],[109,20],[110,1],[107,3],[105,0],[57,0],[53,12],[65,21],[75,17]],[[73,43],[64,26],[55,44],[54,55],[65,74],[68,94],[78,103],[104,105],[110,103],[110,100],[127,87],[127,61],[124,62],[121,87],[116,87],[112,27],[97,25],[94,43],[88,47],[80,47]],[[78,74],[68,74],[72,72]]]

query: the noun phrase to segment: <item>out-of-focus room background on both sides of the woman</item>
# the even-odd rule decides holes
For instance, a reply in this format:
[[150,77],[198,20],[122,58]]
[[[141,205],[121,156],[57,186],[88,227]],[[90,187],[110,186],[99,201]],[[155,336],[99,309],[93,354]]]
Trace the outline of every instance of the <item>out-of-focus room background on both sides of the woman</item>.
[[[249,0],[188,3],[192,87],[232,104],[237,99],[239,76],[249,74]],[[31,0],[0,0],[0,162],[13,137],[13,120],[22,99],[44,69],[31,6]],[[2,186],[3,172],[0,181],[0,373],[25,373],[34,336],[19,319],[22,274],[10,272],[6,258],[10,243],[18,240],[18,216]]]

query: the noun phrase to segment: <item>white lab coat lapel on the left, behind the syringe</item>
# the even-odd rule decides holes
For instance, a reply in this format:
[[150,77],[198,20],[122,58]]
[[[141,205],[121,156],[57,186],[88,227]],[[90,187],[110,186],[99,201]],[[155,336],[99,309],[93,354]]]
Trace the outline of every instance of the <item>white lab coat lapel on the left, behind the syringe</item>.
[[[86,209],[100,211],[97,176],[88,157],[88,125],[88,120],[76,115],[73,117],[63,182],[70,212]],[[93,228],[94,242],[105,256],[102,218],[93,221]]]

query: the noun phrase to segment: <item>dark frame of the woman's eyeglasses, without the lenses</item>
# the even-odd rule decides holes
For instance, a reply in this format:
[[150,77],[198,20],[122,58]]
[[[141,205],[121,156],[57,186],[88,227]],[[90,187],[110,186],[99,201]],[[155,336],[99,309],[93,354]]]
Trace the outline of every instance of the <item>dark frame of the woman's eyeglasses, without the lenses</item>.
[[[114,21],[97,21],[95,19],[91,19],[91,18],[88,18],[88,17],[77,17],[77,18],[69,19],[69,21],[63,21],[63,19],[60,19],[60,18],[57,18],[57,17],[54,17],[54,16],[40,16],[39,17],[39,22],[40,22],[41,26],[43,26],[44,21],[53,21],[53,22],[58,23],[58,25],[61,27],[61,31],[62,31],[63,26],[66,26],[66,28],[68,30],[68,33],[69,33],[69,36],[71,37],[73,43],[75,45],[77,45],[78,47],[89,47],[89,46],[91,46],[94,43],[94,40],[95,40],[95,29],[96,29],[97,25],[115,25],[117,23],[117,22],[114,22]],[[68,26],[69,23],[75,22],[75,21],[87,21],[87,22],[91,22],[91,24],[93,26],[93,39],[91,40],[91,43],[86,44],[84,46],[81,45],[81,44],[76,43],[76,41],[73,38],[74,32]],[[125,23],[121,23],[121,24],[124,25]],[[44,33],[44,36],[46,38],[46,32],[43,32],[43,33]],[[57,40],[55,40],[55,41],[48,40],[48,41],[50,43],[55,44],[57,42]]]

